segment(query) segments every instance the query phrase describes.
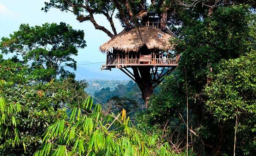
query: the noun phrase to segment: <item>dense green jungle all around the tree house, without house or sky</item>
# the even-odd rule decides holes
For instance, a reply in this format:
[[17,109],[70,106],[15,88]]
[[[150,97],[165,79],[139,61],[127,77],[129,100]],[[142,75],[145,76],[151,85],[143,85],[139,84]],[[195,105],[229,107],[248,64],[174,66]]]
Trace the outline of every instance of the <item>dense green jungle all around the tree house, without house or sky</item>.
[[154,11],[175,34],[168,42],[180,61],[145,109],[131,79],[76,79],[74,56],[90,40],[83,30],[21,24],[0,36],[0,155],[256,154],[254,0],[49,0],[41,8],[71,13],[109,39],[117,24],[136,29],[135,15]]

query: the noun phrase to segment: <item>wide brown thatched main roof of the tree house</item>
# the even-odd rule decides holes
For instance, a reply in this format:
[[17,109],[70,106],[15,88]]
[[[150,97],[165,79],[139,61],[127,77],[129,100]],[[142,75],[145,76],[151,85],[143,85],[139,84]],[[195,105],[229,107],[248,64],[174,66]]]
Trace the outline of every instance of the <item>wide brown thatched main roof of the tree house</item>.
[[148,49],[172,50],[173,46],[170,45],[169,39],[174,37],[171,31],[164,32],[159,28],[134,28],[130,31],[123,30],[108,42],[104,43],[100,47],[100,50],[102,52],[108,52],[110,49],[114,48],[115,50],[124,52],[138,52],[144,45],[147,46]]

